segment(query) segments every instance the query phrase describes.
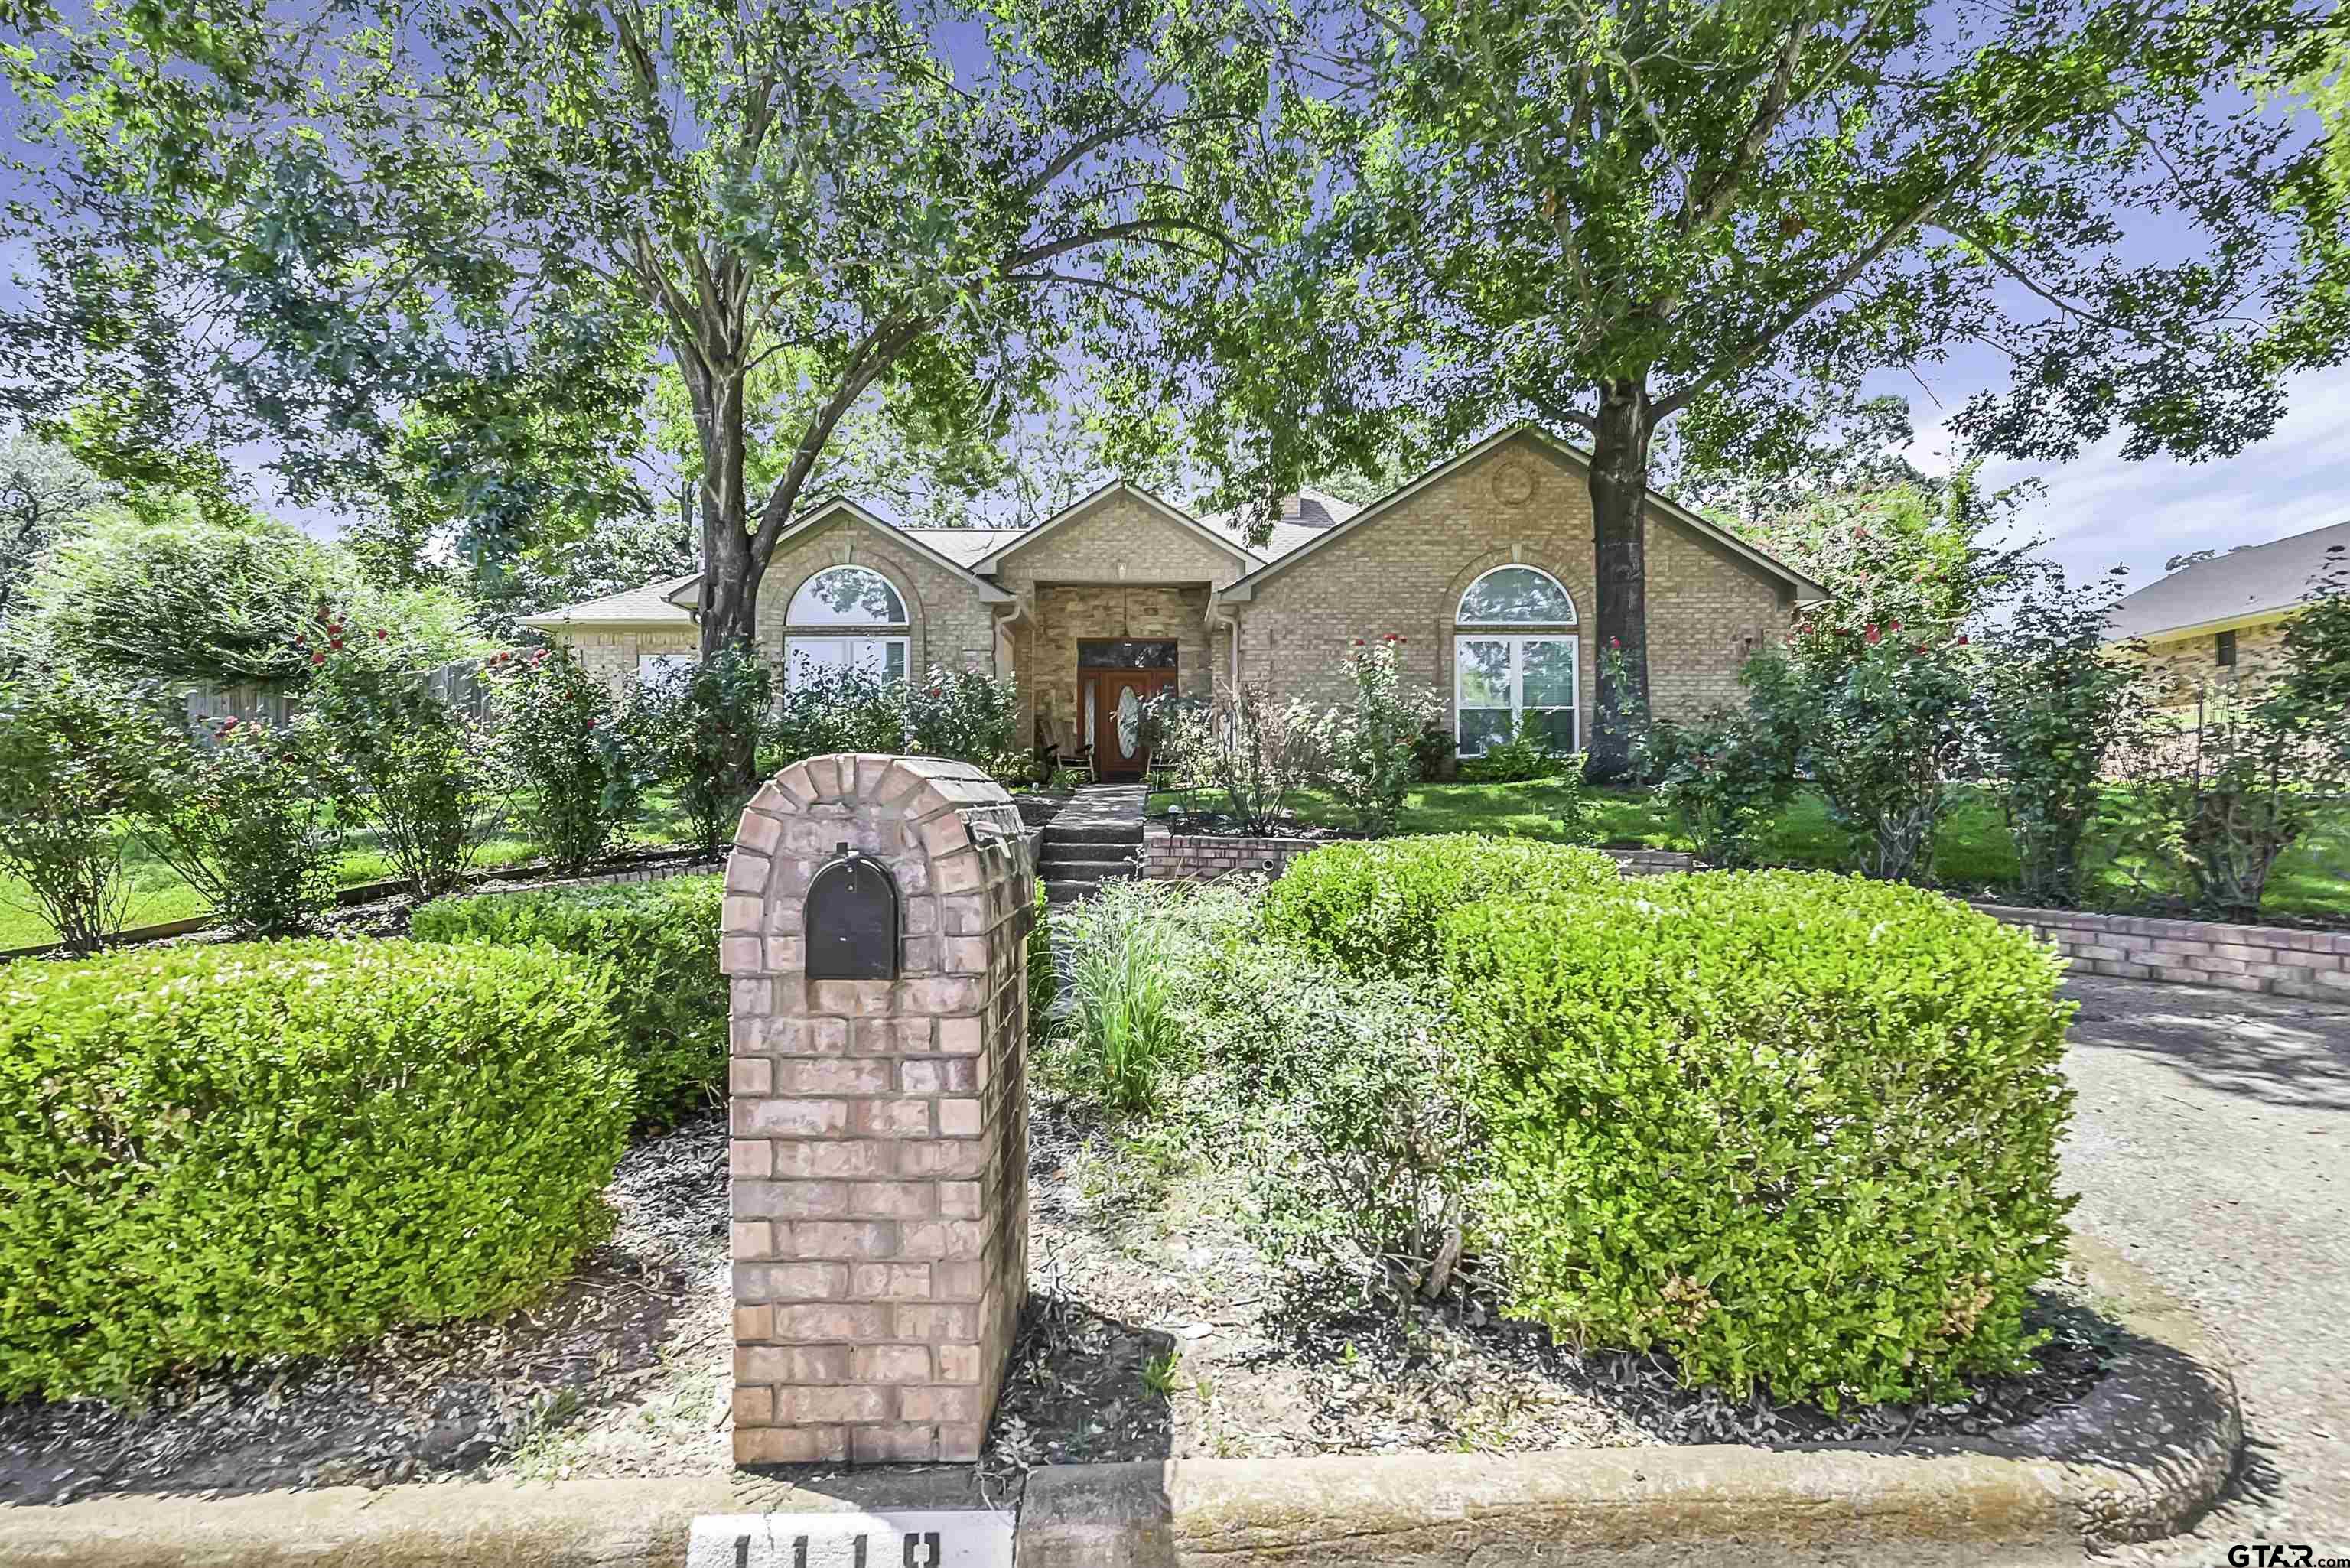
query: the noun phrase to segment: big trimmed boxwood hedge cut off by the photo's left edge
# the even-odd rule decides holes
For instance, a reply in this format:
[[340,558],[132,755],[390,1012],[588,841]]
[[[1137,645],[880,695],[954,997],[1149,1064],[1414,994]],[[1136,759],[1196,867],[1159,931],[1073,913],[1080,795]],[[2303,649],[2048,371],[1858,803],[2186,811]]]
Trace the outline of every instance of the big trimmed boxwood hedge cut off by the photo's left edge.
[[0,1399],[479,1316],[609,1234],[630,1084],[552,952],[0,969]]

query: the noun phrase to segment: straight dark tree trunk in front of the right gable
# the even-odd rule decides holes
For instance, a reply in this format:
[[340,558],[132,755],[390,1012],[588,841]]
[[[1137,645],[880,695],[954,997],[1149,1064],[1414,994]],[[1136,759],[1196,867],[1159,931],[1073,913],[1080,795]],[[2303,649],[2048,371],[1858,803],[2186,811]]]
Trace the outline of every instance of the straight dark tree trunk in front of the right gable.
[[[1584,776],[1631,771],[1633,731],[1647,722],[1647,381],[1600,383],[1591,442],[1591,555],[1598,576],[1598,724]],[[1619,665],[1622,679],[1607,679]]]

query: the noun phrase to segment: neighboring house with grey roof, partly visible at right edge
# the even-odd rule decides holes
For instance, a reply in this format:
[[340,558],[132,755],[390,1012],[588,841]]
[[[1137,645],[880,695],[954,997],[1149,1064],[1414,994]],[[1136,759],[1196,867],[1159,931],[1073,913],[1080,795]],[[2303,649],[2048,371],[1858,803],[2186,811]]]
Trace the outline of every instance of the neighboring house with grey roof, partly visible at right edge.
[[2113,607],[2113,642],[2146,644],[2146,661],[2167,675],[2181,703],[2207,682],[2258,677],[2275,665],[2284,623],[2308,602],[2310,578],[2345,555],[2350,522],[2336,522],[2181,567]]

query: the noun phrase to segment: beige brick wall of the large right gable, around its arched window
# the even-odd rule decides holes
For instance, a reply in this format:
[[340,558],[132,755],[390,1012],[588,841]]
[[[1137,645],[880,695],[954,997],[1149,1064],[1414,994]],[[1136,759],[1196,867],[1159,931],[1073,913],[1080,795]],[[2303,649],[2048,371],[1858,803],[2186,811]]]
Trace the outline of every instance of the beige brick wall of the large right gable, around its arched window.
[[[1579,733],[1589,745],[1598,651],[1591,491],[1584,470],[1532,437],[1504,442],[1361,529],[1257,585],[1236,604],[1241,679],[1318,703],[1347,698],[1340,661],[1356,637],[1405,637],[1408,679],[1452,705],[1459,597],[1480,574],[1542,567],[1574,599],[1582,672]],[[1659,512],[1647,522],[1650,691],[1659,712],[1739,696],[1737,672],[1786,630],[1793,590]],[[1224,679],[1224,670],[1217,670]]]

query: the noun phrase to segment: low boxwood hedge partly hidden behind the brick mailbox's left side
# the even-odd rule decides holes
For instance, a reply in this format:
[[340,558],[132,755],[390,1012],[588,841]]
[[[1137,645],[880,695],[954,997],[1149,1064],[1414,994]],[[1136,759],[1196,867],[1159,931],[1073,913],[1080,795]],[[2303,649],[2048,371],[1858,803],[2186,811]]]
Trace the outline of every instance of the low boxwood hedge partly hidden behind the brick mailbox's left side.
[[416,912],[430,943],[545,945],[609,973],[613,1023],[637,1079],[637,1119],[667,1124],[726,1084],[721,877],[665,877],[536,893],[439,898]]

